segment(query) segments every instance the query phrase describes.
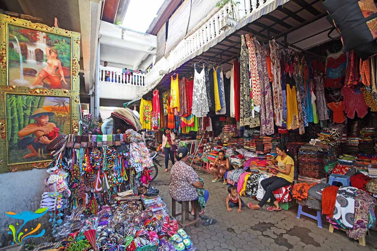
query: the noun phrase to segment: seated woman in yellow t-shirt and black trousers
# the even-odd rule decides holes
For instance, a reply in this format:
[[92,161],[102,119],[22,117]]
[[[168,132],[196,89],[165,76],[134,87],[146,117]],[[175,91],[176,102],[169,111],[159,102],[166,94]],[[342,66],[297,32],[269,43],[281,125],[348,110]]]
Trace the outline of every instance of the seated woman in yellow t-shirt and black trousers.
[[[251,210],[259,210],[261,209],[268,199],[271,200],[271,202],[274,202],[274,207],[268,207],[268,211],[281,211],[282,208],[279,207],[279,202],[276,201],[275,196],[273,194],[273,191],[280,188],[280,187],[285,187],[289,186],[293,182],[293,175],[294,175],[294,161],[293,159],[287,155],[287,147],[283,144],[280,143],[276,147],[276,153],[277,157],[276,160],[272,161],[270,163],[269,168],[274,168],[277,170],[277,175],[272,176],[270,178],[267,178],[265,180],[261,181],[261,185],[266,191],[264,194],[262,200],[257,204],[253,203],[248,203],[247,206]],[[271,164],[276,164],[277,167],[272,166]]]

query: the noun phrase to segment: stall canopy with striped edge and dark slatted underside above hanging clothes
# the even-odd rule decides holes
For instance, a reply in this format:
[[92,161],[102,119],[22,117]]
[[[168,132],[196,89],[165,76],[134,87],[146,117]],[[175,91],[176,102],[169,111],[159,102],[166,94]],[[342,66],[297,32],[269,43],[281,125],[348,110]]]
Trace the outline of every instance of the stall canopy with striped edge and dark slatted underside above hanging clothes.
[[[237,58],[241,50],[241,35],[247,33],[254,34],[262,43],[275,39],[279,49],[289,47],[316,59],[320,58],[320,55],[310,49],[340,38],[339,33],[326,20],[327,12],[322,2],[322,0],[277,0],[266,5],[251,17],[241,20],[236,26],[225,31],[199,52],[193,53],[170,68],[155,88],[160,91],[169,90],[173,74],[177,73],[179,78],[190,78],[194,74],[193,64],[200,64],[203,61],[221,66],[224,72],[230,70],[231,61]],[[155,88],[146,96],[152,96]]]

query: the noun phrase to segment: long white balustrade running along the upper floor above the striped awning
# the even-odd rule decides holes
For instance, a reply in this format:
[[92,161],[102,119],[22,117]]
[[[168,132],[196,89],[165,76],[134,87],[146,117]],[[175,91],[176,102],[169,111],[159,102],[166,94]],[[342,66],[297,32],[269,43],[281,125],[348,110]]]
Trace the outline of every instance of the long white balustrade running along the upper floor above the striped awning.
[[230,3],[219,9],[204,24],[191,35],[183,39],[167,58],[162,58],[147,73],[149,84],[160,77],[160,71],[168,71],[169,68],[184,60],[187,56],[200,50],[202,47],[216,39],[225,30],[231,28],[238,21],[250,16],[253,12],[275,0],[239,0],[237,6],[231,7]]

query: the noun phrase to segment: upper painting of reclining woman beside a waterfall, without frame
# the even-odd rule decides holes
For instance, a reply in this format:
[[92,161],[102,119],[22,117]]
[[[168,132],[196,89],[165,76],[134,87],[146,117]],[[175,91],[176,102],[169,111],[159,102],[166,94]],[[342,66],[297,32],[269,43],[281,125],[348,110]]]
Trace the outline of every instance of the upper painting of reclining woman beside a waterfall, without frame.
[[71,38],[8,24],[9,85],[71,89]]

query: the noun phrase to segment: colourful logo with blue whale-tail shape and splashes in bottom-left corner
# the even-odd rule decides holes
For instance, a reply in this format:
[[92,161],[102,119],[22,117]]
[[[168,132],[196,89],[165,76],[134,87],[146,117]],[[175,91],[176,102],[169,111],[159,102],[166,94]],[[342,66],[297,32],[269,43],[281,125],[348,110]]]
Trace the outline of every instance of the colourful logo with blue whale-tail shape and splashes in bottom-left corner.
[[[18,214],[13,213],[13,212],[6,212],[5,214],[12,219],[23,220],[23,224],[20,227],[18,227],[17,232],[16,232],[16,228],[14,227],[14,225],[8,226],[8,234],[13,235],[13,241],[14,242],[12,242],[12,245],[13,244],[24,245],[25,240],[27,240],[29,238],[35,238],[35,237],[43,236],[43,234],[46,232],[46,230],[44,230],[44,229],[42,229],[39,234],[31,235],[31,234],[34,234],[35,232],[37,232],[41,228],[40,223],[38,223],[37,227],[31,228],[30,231],[28,230],[28,228],[23,228],[23,227],[29,221],[32,221],[32,220],[35,220],[35,219],[42,217],[44,214],[46,214],[48,212],[47,210],[48,210],[48,207],[39,208],[35,212],[23,211],[23,212],[18,213]],[[18,223],[16,225],[18,226]],[[20,231],[25,231],[25,233],[20,232]]]

